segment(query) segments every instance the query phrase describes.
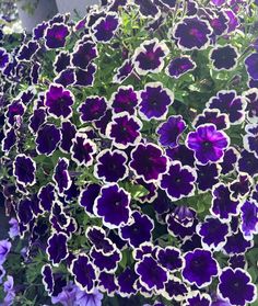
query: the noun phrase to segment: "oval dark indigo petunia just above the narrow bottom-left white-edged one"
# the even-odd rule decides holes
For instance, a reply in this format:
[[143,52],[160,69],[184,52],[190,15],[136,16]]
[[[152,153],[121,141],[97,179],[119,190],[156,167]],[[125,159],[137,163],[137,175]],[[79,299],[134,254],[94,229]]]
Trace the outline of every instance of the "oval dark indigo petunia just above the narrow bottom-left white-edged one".
[[52,236],[49,237],[46,251],[52,265],[58,265],[68,257],[67,241],[68,237],[63,233],[54,233]]

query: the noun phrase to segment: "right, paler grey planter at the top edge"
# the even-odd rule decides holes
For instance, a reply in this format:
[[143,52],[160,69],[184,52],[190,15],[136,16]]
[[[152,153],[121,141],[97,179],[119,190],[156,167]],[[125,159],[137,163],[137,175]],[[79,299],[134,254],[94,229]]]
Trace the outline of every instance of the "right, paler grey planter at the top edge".
[[71,18],[84,16],[89,5],[98,4],[98,0],[56,0],[59,13],[71,13]]

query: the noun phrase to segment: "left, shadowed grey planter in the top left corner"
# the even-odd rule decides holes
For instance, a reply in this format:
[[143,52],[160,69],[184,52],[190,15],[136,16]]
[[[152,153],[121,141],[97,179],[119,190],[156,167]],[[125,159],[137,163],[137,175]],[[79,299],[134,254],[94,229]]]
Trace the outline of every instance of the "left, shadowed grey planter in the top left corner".
[[51,19],[58,12],[55,0],[48,0],[47,5],[46,0],[19,0],[16,5],[22,25],[28,33],[38,23]]

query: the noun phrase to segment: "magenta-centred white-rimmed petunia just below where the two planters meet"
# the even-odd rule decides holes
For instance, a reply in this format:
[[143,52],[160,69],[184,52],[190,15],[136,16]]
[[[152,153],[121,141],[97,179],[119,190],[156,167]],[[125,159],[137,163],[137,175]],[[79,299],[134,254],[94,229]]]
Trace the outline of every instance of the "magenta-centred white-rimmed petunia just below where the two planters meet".
[[69,34],[69,27],[66,24],[54,23],[45,33],[46,47],[49,49],[64,47]]

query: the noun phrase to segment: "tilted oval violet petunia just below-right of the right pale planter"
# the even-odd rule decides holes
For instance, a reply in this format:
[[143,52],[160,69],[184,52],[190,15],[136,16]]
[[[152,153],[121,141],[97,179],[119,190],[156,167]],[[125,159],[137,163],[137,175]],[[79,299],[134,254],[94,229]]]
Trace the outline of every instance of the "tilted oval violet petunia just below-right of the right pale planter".
[[93,36],[96,42],[108,43],[119,29],[119,16],[115,12],[108,12],[99,18],[92,26]]

